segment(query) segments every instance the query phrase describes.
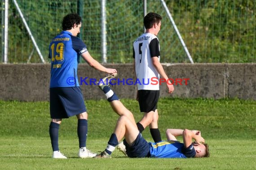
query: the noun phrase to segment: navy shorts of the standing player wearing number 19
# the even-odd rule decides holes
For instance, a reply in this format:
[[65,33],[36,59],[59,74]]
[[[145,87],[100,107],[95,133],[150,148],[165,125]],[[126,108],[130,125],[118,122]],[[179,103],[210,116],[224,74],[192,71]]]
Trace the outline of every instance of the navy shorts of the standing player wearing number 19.
[[80,87],[50,88],[50,115],[52,119],[64,119],[86,112]]

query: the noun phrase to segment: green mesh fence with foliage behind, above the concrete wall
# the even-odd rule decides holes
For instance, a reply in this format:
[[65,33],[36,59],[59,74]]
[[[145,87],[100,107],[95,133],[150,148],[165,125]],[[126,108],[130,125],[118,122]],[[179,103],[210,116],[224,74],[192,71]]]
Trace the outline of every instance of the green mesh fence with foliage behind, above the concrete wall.
[[[83,9],[80,38],[90,54],[102,60],[101,0],[17,0],[31,35],[15,1],[9,0],[9,63],[42,62],[31,35],[45,62],[50,62],[50,40],[62,31],[62,18],[77,13],[78,8]],[[165,3],[195,63],[256,62],[256,0],[165,0]],[[4,6],[2,3],[0,10],[2,58]],[[146,0],[146,7],[147,12],[163,17],[158,35],[161,62],[190,63],[162,1]],[[143,17],[143,0],[106,0],[107,63],[132,63],[132,43],[144,32]]]

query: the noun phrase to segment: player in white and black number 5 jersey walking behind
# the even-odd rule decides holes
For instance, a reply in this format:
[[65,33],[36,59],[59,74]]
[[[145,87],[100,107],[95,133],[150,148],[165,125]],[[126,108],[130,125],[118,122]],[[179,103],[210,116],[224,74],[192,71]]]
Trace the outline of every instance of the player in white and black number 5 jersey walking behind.
[[146,32],[133,43],[134,71],[137,79],[141,82],[137,83],[137,100],[141,112],[144,112],[144,116],[137,123],[137,127],[142,132],[149,126],[154,142],[162,140],[158,129],[159,116],[157,111],[159,75],[166,80],[168,93],[172,93],[174,90],[160,63],[160,46],[157,34],[161,27],[161,19],[162,17],[157,13],[148,13],[144,17]]

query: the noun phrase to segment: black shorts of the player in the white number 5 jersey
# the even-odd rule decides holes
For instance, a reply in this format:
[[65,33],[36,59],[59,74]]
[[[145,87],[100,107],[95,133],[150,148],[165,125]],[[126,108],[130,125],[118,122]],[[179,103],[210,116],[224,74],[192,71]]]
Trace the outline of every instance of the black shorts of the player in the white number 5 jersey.
[[150,112],[157,109],[159,90],[138,90],[138,101],[141,112]]

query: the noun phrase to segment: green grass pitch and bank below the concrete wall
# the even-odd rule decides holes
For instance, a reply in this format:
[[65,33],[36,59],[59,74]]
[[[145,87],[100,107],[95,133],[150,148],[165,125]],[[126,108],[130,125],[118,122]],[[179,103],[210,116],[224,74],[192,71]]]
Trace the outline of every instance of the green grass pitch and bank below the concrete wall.
[[[136,120],[141,118],[135,100],[122,99]],[[108,102],[86,101],[87,148],[102,151],[118,119]],[[239,99],[179,99],[159,101],[159,129],[201,130],[211,157],[193,159],[127,158],[115,150],[111,159],[79,159],[75,117],[64,119],[59,146],[67,160],[51,158],[49,102],[0,101],[0,170],[35,169],[147,169],[147,170],[255,170],[256,101]],[[152,141],[149,129],[143,136]]]

